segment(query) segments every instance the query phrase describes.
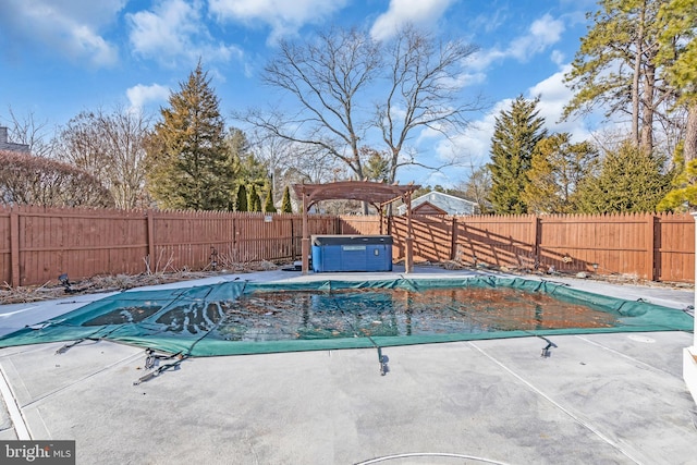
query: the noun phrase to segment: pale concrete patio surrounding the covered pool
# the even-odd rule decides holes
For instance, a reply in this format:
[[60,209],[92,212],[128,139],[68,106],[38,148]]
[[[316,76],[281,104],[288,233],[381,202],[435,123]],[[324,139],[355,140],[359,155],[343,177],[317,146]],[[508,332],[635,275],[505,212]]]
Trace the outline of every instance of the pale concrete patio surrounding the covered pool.
[[[468,276],[425,267],[409,277]],[[259,272],[199,280],[380,279]],[[561,280],[554,279],[554,280]],[[681,311],[693,290],[564,280]],[[0,307],[0,333],[103,295]],[[143,348],[0,350],[0,439],[75,440],[78,464],[697,463],[689,332],[553,336],[189,358],[134,384]]]

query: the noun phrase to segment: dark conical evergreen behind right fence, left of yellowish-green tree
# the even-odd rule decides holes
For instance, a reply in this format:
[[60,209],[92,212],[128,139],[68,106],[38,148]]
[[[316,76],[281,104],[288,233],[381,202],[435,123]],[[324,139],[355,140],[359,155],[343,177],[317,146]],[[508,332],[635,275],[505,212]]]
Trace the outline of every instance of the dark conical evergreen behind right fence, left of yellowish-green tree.
[[546,135],[545,119],[538,117],[535,100],[518,96],[510,110],[502,110],[496,119],[491,139],[491,173],[489,201],[496,213],[526,213],[527,205],[522,194],[528,184],[533,151]]

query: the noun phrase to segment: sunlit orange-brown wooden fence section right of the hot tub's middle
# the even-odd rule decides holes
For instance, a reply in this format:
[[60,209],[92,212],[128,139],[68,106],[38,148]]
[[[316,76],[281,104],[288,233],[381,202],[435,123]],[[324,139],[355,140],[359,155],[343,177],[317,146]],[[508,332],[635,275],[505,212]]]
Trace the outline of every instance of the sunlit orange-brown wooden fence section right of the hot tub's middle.
[[[405,217],[383,219],[382,225],[377,216],[341,218],[343,233],[391,234],[393,259],[404,257]],[[690,215],[413,216],[412,228],[414,255],[428,261],[695,279]]]

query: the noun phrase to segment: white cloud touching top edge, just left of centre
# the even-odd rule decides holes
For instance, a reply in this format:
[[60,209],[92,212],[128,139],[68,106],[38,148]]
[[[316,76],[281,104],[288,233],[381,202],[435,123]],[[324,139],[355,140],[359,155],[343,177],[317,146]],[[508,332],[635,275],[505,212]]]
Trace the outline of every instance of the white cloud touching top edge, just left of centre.
[[295,34],[305,24],[319,24],[346,3],[347,0],[210,0],[208,9],[220,21],[270,26],[272,42]]

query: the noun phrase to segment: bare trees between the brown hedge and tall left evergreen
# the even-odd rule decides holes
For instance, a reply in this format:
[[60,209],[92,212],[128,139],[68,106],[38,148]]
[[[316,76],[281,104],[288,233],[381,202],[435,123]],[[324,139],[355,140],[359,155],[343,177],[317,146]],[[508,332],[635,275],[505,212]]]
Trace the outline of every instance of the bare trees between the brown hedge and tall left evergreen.
[[118,208],[146,203],[145,139],[149,120],[115,108],[84,111],[70,120],[58,136],[57,156],[97,178],[112,194]]

